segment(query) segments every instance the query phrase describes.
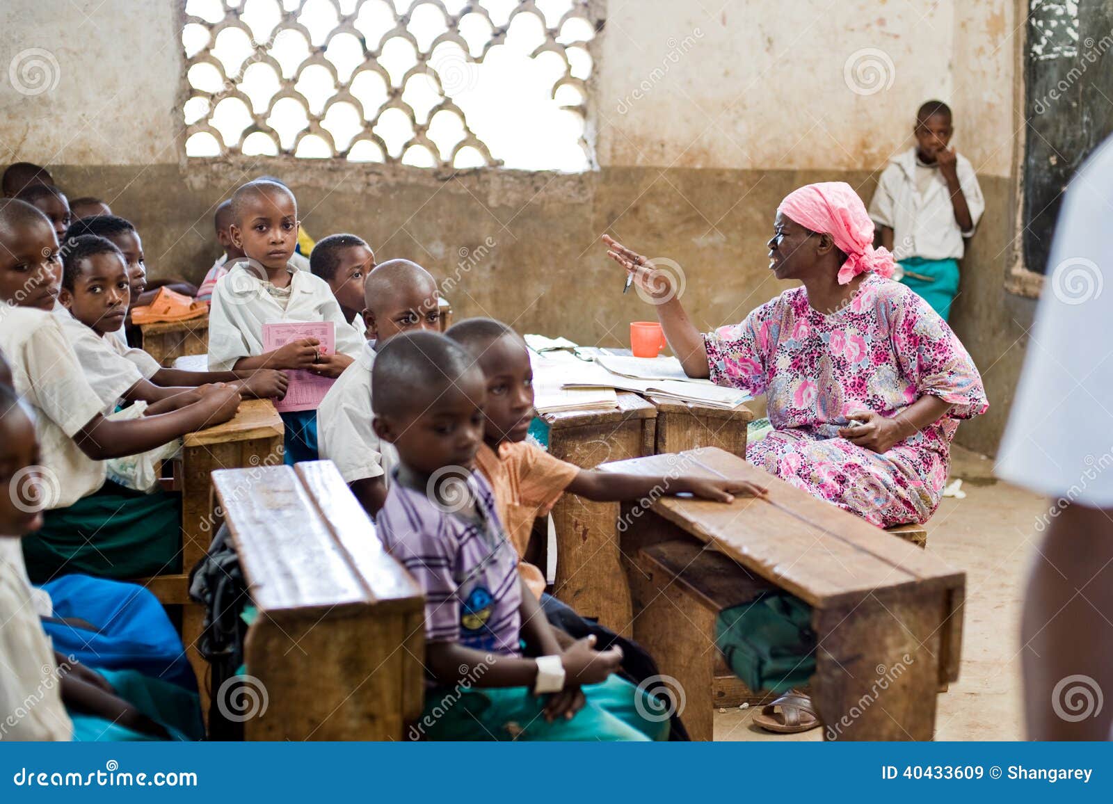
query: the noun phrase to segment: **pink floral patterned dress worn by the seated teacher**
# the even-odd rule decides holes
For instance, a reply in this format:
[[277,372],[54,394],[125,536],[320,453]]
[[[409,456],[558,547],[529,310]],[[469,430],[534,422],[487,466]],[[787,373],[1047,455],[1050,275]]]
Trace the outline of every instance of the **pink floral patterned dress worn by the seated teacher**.
[[[883,528],[927,521],[958,420],[988,408],[982,376],[951,327],[908,287],[876,274],[830,315],[796,287],[703,337],[713,382],[766,394],[775,429],[747,458]],[[838,437],[848,413],[892,416],[924,394],[954,408],[885,453]]]

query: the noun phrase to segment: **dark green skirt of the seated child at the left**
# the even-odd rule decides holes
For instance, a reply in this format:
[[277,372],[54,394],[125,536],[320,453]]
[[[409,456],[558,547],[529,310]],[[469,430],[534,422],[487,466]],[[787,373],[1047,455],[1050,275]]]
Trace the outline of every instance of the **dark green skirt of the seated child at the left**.
[[181,496],[144,494],[107,481],[99,491],[43,513],[42,528],[23,537],[33,584],[81,572],[145,578],[181,571]]

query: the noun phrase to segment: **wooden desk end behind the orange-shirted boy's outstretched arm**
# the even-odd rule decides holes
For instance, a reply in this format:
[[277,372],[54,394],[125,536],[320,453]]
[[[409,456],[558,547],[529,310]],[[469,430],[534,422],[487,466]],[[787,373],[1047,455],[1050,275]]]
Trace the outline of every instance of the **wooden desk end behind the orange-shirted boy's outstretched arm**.
[[[652,454],[657,410],[638,394],[622,392],[618,398],[618,409],[543,414],[549,451],[585,469]],[[558,539],[555,596],[584,617],[629,636],[632,608],[619,549],[619,503],[565,494],[552,516]]]

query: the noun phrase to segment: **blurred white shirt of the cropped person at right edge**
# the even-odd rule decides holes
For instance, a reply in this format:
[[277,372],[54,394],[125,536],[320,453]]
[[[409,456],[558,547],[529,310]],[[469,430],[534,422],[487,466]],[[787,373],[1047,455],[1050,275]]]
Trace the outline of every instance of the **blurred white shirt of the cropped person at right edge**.
[[996,473],[1113,508],[1113,139],[1071,180]]

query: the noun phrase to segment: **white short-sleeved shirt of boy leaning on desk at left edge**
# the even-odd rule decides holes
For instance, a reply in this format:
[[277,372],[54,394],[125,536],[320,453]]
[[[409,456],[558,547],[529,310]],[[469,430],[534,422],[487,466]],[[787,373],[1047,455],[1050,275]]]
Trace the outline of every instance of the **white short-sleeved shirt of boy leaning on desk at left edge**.
[[11,365],[16,393],[35,413],[47,508],[67,508],[105,482],[104,461],[92,460],[73,441],[105,403],[51,313],[0,305],[0,352]]

